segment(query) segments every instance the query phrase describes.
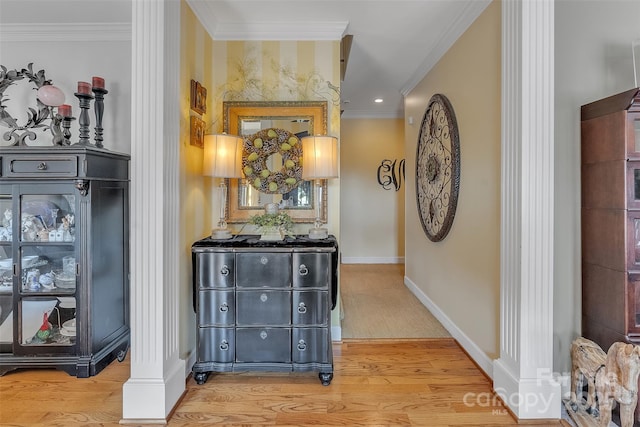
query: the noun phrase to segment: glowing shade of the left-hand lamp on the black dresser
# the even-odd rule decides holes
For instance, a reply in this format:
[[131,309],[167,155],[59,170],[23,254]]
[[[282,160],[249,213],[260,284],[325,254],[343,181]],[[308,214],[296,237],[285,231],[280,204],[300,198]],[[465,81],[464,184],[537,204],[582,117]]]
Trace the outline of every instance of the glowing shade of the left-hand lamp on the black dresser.
[[242,138],[227,134],[205,135],[202,174],[216,178],[241,178]]

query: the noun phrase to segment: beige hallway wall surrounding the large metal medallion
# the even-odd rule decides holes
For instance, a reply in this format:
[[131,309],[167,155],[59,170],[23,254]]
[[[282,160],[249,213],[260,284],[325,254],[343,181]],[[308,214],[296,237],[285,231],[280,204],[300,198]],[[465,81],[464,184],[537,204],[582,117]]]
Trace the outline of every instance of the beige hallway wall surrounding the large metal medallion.
[[[415,176],[420,122],[444,94],[460,132],[455,220],[444,241],[427,239],[415,197],[406,198],[406,277],[481,350],[499,353],[500,320],[500,2],[493,2],[406,97],[407,177]],[[408,122],[409,120],[407,120]],[[413,178],[406,194],[415,194]]]

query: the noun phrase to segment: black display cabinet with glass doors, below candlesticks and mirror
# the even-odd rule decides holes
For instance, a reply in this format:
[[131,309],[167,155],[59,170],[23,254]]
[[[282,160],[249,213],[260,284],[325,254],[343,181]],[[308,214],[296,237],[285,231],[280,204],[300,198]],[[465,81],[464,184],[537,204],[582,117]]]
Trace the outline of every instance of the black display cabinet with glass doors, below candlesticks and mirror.
[[0,375],[95,375],[129,346],[129,157],[0,152]]

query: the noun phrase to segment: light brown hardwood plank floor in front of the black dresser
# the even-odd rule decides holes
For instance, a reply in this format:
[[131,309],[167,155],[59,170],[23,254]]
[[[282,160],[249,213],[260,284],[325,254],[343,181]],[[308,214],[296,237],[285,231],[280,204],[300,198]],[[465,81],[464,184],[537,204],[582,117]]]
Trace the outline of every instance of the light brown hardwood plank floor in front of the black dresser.
[[[517,425],[451,338],[345,340],[334,345],[334,365],[326,387],[314,373],[212,374],[203,385],[188,378],[168,425]],[[9,373],[0,378],[0,425],[117,426],[128,377],[127,360],[85,379],[55,370]]]

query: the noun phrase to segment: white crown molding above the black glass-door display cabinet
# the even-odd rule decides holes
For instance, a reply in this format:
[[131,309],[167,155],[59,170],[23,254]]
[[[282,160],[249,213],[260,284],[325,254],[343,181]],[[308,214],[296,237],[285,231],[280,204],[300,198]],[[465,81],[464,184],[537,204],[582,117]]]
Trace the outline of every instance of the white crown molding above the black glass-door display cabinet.
[[131,41],[131,24],[2,24],[0,40],[3,42]]

